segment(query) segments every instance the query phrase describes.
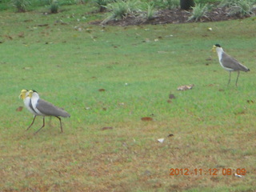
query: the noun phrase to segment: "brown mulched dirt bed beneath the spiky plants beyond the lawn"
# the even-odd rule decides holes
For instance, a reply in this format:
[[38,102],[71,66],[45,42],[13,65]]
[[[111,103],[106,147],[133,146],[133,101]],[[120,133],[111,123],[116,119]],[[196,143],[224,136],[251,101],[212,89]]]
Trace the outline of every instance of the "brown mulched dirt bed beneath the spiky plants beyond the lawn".
[[[158,10],[158,13],[154,16],[154,18],[150,20],[146,20],[142,17],[135,17],[134,15],[128,15],[126,18],[122,20],[114,20],[110,22],[104,23],[104,25],[110,26],[138,26],[143,24],[167,24],[167,23],[187,23],[194,22],[194,20],[188,21],[190,18],[192,10]],[[254,14],[256,14],[256,10],[254,9]],[[242,19],[246,17],[241,17],[240,15],[229,15],[227,7],[218,7],[213,8],[209,13],[206,14],[205,17],[198,19],[198,22],[219,22],[219,21],[227,21],[233,19]],[[91,22],[94,25],[101,25],[102,21]]]

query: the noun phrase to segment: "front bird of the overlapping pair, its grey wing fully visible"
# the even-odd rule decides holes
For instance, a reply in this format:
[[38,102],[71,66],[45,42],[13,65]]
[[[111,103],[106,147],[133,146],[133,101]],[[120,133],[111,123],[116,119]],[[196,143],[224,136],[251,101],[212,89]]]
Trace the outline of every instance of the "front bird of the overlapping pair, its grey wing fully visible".
[[[54,106],[52,103],[46,102],[45,100],[39,98],[39,95],[35,90],[30,90],[28,96],[31,98],[30,102],[31,102],[32,108],[34,109],[36,115],[40,115],[43,117],[42,127],[45,126],[45,117],[46,116],[54,116],[54,117],[58,118],[60,125],[61,125],[61,130],[62,130],[62,119],[59,117],[70,118],[70,114],[68,114],[65,110],[62,110],[58,106]],[[41,130],[42,127],[39,130]],[[35,132],[35,134],[37,134],[38,131]],[[62,130],[62,132],[63,132],[63,130]]]

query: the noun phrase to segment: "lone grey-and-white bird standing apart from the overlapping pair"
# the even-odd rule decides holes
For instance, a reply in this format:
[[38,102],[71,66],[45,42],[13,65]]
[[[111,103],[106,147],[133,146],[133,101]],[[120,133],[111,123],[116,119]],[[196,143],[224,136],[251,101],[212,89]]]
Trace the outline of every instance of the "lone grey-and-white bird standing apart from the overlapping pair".
[[[230,55],[226,54],[219,44],[214,45],[213,50],[217,51],[218,61],[224,70],[228,70],[230,72],[230,77],[231,77],[232,71],[238,71],[238,77],[240,74],[240,70],[245,72],[250,71],[250,69],[248,69],[246,66],[243,66],[235,58],[232,58],[230,57]],[[238,77],[237,77],[237,81],[235,82],[235,86],[238,86]],[[230,84],[230,78],[229,78],[228,85],[229,84]]]

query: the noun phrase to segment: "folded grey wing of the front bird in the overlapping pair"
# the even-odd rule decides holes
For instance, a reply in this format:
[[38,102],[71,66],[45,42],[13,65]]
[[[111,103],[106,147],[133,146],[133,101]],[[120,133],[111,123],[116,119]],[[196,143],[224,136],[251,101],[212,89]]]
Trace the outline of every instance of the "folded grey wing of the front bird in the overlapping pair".
[[65,110],[62,110],[58,106],[54,106],[50,102],[46,102],[45,100],[39,98],[37,108],[42,114],[46,114],[46,116],[61,116],[63,118],[70,118],[70,114]]

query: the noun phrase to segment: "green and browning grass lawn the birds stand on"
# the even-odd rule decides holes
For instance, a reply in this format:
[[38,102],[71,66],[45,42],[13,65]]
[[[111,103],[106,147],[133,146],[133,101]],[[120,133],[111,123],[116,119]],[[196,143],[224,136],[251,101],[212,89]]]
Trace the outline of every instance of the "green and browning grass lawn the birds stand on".
[[[43,9],[0,13],[1,191],[256,190],[253,18],[102,27],[88,23],[104,18],[86,14],[93,7]],[[215,43],[250,68],[238,87],[236,73],[226,86]],[[177,90],[187,84],[194,88]],[[63,134],[57,118],[46,118],[37,135],[40,117],[24,131],[33,117],[16,111],[22,89],[71,114],[62,118]],[[247,173],[169,175],[223,167]]]

